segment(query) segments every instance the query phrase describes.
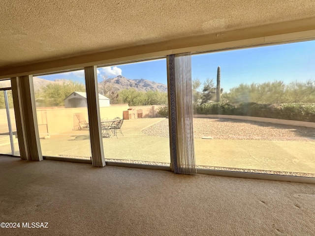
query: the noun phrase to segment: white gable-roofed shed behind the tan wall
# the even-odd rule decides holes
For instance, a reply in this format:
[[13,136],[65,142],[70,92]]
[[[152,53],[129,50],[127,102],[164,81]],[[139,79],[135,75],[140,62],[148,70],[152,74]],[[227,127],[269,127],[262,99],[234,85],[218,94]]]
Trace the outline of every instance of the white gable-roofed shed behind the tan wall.
[[[110,99],[98,93],[99,107],[109,107]],[[86,92],[72,92],[64,98],[64,108],[87,107]]]

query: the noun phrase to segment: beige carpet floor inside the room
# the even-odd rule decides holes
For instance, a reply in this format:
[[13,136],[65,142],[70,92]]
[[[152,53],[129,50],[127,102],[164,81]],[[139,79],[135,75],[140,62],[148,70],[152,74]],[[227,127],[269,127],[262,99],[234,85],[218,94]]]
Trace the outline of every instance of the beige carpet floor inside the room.
[[315,185],[0,156],[0,222],[20,223],[3,236],[313,236]]

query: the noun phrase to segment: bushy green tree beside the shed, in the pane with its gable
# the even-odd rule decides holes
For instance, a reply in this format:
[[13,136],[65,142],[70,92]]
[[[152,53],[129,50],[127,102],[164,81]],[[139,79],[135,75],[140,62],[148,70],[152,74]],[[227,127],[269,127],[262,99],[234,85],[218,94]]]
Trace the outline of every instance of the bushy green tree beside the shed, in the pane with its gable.
[[74,81],[64,81],[63,84],[53,83],[41,87],[35,93],[35,98],[39,106],[64,106],[63,100],[74,91],[85,92],[86,89],[81,83]]

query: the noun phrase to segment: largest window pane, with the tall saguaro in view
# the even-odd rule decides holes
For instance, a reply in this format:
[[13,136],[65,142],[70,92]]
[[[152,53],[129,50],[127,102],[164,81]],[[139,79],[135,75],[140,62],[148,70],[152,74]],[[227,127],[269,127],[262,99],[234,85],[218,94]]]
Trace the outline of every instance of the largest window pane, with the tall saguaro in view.
[[314,52],[308,41],[192,57],[199,168],[315,177]]

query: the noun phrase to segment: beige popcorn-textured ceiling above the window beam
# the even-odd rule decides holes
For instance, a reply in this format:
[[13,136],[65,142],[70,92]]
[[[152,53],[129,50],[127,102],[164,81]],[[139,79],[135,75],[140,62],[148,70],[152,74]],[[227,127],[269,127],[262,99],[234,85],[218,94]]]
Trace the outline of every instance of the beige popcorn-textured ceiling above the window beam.
[[314,0],[0,0],[0,4],[0,69],[315,19]]

